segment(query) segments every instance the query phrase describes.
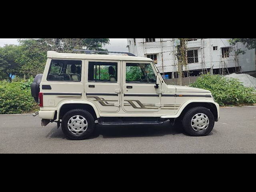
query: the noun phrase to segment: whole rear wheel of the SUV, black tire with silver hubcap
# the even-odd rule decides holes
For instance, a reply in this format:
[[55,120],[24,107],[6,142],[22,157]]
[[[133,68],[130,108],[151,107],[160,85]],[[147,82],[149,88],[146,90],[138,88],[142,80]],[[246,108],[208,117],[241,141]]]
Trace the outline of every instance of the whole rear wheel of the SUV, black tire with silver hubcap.
[[61,128],[68,139],[82,140],[88,138],[94,131],[95,121],[86,110],[74,109],[68,111],[62,118]]

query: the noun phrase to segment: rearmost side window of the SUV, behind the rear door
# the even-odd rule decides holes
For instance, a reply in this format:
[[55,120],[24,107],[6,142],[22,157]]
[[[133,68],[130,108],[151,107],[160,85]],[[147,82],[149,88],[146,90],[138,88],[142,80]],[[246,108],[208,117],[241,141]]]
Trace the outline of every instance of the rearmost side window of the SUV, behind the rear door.
[[82,61],[52,60],[48,72],[48,81],[81,81]]

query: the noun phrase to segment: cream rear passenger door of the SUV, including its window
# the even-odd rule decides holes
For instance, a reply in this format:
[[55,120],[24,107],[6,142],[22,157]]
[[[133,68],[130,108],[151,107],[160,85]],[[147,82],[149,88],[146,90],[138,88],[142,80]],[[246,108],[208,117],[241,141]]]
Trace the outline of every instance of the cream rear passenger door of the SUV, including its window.
[[120,110],[120,61],[86,60],[85,97],[99,112]]

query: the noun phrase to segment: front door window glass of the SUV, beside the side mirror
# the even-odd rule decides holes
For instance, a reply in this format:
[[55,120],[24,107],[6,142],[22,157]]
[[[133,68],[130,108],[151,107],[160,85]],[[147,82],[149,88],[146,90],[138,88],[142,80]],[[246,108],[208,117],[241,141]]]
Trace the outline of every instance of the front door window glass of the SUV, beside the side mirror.
[[126,83],[156,83],[151,64],[126,63]]

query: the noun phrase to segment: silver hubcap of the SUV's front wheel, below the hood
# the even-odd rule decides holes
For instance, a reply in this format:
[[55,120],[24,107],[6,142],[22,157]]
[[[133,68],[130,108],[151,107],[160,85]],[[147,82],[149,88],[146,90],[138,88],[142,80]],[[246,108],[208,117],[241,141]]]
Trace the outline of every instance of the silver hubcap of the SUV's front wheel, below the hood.
[[201,132],[208,128],[209,118],[206,114],[198,113],[191,119],[191,126],[195,131]]

